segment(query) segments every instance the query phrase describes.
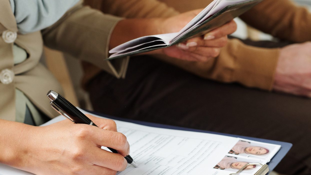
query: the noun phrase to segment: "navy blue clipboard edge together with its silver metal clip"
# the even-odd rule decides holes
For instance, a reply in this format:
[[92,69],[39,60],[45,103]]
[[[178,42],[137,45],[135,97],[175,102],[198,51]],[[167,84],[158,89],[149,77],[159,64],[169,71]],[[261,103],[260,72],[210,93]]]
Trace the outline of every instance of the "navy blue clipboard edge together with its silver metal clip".
[[90,110],[85,110],[85,111],[93,113],[95,115],[102,116],[102,117],[110,118],[113,120],[120,120],[123,122],[131,122],[131,123],[135,123],[135,124],[139,124],[139,125],[145,125],[148,127],[158,127],[158,128],[174,129],[174,130],[182,130],[182,131],[194,131],[194,132],[218,134],[218,135],[223,135],[223,136],[239,137],[239,138],[243,138],[243,139],[247,139],[247,140],[254,140],[254,141],[259,141],[259,142],[264,142],[264,143],[281,145],[281,149],[276,153],[276,155],[270,160],[269,163],[264,164],[264,165],[261,163],[248,163],[248,164],[244,165],[244,167],[239,169],[236,173],[231,173],[229,175],[239,175],[239,173],[241,173],[243,171],[243,169],[246,168],[248,165],[261,166],[261,168],[258,170],[258,172],[255,173],[255,175],[270,174],[272,172],[272,170],[277,166],[277,164],[279,164],[281,162],[281,160],[285,157],[285,155],[288,153],[290,148],[293,146],[293,144],[287,143],[287,142],[260,139],[260,138],[255,138],[255,137],[239,136],[239,135],[233,135],[233,134],[224,134],[224,133],[219,133],[219,132],[198,130],[198,129],[185,128],[185,127],[177,127],[177,126],[171,126],[171,125],[165,125],[165,124],[159,124],[159,123],[143,122],[143,121],[137,121],[137,120],[126,119],[126,118],[121,118],[121,117],[109,116],[109,115],[105,115],[105,114],[90,111]]

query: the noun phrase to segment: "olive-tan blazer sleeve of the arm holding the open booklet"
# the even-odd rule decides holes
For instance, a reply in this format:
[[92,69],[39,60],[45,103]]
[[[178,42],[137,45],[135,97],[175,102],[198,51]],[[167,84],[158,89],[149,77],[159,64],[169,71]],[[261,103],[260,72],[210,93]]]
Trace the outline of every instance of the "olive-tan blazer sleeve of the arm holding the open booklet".
[[42,31],[44,44],[97,65],[120,78],[125,74],[128,58],[113,62],[104,59],[108,58],[110,35],[121,19],[83,6],[80,1],[57,23]]

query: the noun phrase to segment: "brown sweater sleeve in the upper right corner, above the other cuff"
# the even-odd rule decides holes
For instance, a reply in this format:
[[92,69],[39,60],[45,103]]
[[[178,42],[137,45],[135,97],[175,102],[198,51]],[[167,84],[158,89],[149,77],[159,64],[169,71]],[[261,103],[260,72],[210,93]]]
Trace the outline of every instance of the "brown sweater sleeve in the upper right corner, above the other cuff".
[[311,41],[311,13],[290,0],[264,0],[240,16],[249,25],[280,39]]

